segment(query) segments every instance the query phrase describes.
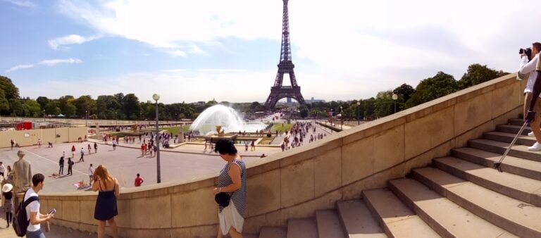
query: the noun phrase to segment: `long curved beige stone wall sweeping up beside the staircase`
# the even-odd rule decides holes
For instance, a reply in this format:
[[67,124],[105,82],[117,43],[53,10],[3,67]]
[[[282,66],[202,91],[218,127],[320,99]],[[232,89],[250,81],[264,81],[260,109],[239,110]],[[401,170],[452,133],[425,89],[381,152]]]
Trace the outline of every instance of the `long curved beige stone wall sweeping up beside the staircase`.
[[[248,163],[244,232],[285,226],[335,202],[359,199],[363,189],[385,187],[411,168],[465,146],[522,111],[526,81],[514,74],[351,130]],[[182,173],[181,171],[179,173]],[[116,218],[123,237],[216,237],[212,189],[218,171],[192,180],[122,189]],[[40,195],[42,211],[57,208],[54,223],[95,232],[96,193]]]

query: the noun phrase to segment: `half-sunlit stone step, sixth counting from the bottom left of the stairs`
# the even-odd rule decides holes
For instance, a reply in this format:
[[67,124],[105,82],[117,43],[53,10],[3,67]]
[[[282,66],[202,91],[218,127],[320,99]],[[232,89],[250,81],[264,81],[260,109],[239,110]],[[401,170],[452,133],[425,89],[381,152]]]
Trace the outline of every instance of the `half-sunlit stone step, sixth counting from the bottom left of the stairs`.
[[442,237],[499,237],[508,233],[416,180],[390,180],[389,187]]

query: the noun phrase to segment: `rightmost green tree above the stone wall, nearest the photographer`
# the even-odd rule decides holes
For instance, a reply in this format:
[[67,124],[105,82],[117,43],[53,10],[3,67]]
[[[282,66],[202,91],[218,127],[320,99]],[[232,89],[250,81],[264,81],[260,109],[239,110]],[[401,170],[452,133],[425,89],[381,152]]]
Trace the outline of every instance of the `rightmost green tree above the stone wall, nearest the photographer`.
[[469,65],[468,71],[462,75],[461,79],[459,80],[459,88],[465,89],[475,84],[494,80],[497,77],[502,77],[508,74],[509,73],[505,73],[502,70],[497,71],[488,68],[487,65],[474,63],[473,65]]

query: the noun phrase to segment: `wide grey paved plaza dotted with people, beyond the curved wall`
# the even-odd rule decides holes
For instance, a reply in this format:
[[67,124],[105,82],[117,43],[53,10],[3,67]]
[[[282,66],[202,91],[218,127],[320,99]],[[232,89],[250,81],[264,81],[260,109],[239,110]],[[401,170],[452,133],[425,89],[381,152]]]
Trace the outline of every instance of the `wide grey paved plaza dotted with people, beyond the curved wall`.
[[[38,148],[37,146],[27,146],[23,148],[0,149],[0,161],[4,165],[11,165],[18,160],[17,151],[21,149],[25,151],[25,159],[32,164],[32,173],[42,173],[45,175],[45,186],[43,192],[75,192],[75,191],[90,191],[91,188],[76,187],[80,181],[89,182],[88,168],[90,163],[97,168],[103,164],[108,168],[109,173],[117,177],[121,187],[134,187],[134,180],[137,173],[140,173],[144,179],[144,185],[155,184],[156,171],[156,156],[142,156],[141,150],[133,146],[117,146],[113,151],[111,145],[99,144],[98,153],[95,154],[92,149],[92,154],[85,155],[85,161],[79,162],[80,155],[75,153],[75,165],[73,165],[73,175],[67,175],[68,166],[64,167],[64,173],[61,177],[52,177],[53,173],[58,173],[58,159],[62,156],[62,152],[66,151],[66,157],[71,156],[70,148],[75,145],[77,152],[81,147],[87,148],[89,142],[83,143],[65,143],[54,144],[53,148]],[[188,148],[189,147],[189,148]],[[187,146],[184,151],[161,151],[161,181],[173,180],[189,180],[201,175],[218,175],[219,171],[225,165],[218,154],[214,152],[203,153],[204,146],[193,145]],[[259,147],[256,151],[244,152],[244,149],[237,147],[240,154],[243,156],[247,165],[260,160],[261,154],[274,154],[281,151],[279,148],[264,148]],[[85,149],[85,153],[87,150]]]

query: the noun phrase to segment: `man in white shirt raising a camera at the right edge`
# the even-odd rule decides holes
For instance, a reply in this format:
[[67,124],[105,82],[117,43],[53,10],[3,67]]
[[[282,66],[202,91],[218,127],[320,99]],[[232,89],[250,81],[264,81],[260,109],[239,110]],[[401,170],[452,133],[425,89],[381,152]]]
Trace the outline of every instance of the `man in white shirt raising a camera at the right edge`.
[[[526,51],[521,50],[521,68],[518,70],[518,74],[527,74],[530,73],[528,77],[528,83],[526,84],[526,101],[524,102],[524,108],[528,108],[528,111],[524,114],[524,121],[530,123],[532,132],[535,135],[535,144],[528,147],[528,151],[541,151],[541,130],[540,130],[540,117],[535,115],[535,111],[541,111],[541,104],[536,104],[537,97],[541,94],[541,66],[539,61],[539,52],[541,51],[541,43],[535,42],[532,44],[532,52],[530,56],[526,54]],[[524,58],[531,58],[531,61],[528,63],[523,63]],[[535,67],[534,67],[535,66]],[[531,82],[530,82],[531,81]],[[533,87],[530,88],[530,85],[533,82]],[[531,92],[528,92],[529,89]],[[528,104],[529,102],[529,104]],[[534,110],[535,108],[535,110]]]

